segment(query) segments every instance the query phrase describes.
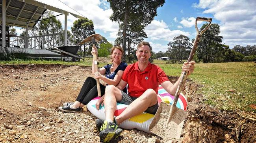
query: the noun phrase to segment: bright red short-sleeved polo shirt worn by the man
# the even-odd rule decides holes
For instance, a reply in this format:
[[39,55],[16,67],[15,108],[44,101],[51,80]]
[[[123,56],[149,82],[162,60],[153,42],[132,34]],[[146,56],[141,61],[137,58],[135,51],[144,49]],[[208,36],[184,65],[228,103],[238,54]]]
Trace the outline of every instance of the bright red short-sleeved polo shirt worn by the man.
[[122,80],[128,82],[128,94],[132,97],[141,96],[147,89],[158,93],[158,85],[169,81],[165,72],[152,63],[148,63],[145,71],[140,71],[138,62],[128,65],[122,75]]

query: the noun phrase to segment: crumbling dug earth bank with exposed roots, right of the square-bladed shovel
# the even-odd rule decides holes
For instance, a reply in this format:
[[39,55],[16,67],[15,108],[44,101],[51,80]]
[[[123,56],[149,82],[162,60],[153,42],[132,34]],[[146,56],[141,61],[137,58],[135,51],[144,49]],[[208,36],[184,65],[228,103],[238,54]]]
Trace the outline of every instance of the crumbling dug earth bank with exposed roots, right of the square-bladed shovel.
[[[169,77],[176,81],[178,77]],[[187,80],[183,93],[187,96],[187,118],[184,143],[255,143],[255,121],[242,118],[237,111],[219,110],[203,103],[199,88],[203,85]],[[247,113],[250,114],[250,113]]]

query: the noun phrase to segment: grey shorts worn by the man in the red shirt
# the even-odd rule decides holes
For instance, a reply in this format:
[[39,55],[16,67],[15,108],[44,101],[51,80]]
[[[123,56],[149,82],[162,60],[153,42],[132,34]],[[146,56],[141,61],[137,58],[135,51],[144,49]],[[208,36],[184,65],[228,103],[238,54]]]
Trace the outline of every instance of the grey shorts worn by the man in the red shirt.
[[[137,99],[137,97],[129,96],[128,94],[126,94],[123,91],[121,91],[121,92],[122,92],[122,100],[120,102],[117,101],[118,103],[130,105],[130,103],[132,103],[132,101]],[[145,112],[150,113],[150,114],[156,114],[157,109],[158,109],[158,103],[156,103],[156,105],[148,107],[148,109]]]

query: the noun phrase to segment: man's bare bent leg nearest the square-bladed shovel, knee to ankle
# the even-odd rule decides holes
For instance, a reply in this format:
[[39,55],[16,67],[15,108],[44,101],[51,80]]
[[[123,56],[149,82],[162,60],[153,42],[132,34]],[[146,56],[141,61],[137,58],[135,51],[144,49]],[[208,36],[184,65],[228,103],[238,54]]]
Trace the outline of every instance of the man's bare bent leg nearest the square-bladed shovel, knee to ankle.
[[126,119],[141,114],[147,110],[148,107],[156,105],[157,101],[156,92],[153,89],[147,89],[147,91],[145,91],[139,98],[134,100],[119,116],[115,118],[117,125]]

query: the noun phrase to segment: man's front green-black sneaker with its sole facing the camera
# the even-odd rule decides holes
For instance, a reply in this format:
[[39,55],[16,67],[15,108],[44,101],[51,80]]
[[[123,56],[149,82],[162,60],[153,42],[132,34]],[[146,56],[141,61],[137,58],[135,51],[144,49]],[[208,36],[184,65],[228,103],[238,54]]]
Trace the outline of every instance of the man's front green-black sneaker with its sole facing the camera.
[[120,129],[115,123],[108,123],[107,121],[104,121],[104,124],[102,124],[100,128],[100,140],[104,143],[108,143],[112,139],[117,138],[122,132],[122,129]]

